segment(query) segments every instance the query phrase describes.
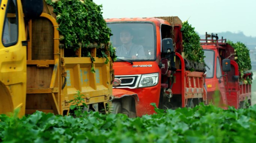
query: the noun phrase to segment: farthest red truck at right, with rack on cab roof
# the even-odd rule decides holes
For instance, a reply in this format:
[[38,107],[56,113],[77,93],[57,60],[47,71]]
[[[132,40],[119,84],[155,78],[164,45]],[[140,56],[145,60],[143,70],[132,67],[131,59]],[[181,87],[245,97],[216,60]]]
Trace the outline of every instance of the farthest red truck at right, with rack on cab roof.
[[204,61],[206,64],[207,99],[211,102],[219,96],[219,104],[222,108],[234,106],[242,108],[245,101],[251,104],[251,85],[240,82],[241,73],[235,61],[235,50],[226,42],[214,34],[205,35],[201,39],[204,49]]

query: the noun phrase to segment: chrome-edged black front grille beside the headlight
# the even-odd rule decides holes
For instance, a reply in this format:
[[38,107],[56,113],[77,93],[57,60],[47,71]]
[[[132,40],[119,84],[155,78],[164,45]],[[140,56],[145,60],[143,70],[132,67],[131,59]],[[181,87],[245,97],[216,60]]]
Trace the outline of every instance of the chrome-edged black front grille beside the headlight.
[[140,76],[140,74],[131,76],[115,76],[115,78],[121,80],[121,84],[113,86],[113,88],[137,88]]

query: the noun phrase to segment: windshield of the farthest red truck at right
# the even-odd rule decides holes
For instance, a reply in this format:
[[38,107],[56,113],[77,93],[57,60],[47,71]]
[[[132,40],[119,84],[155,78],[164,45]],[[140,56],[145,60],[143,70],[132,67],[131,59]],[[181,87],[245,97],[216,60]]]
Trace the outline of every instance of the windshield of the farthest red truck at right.
[[204,50],[204,61],[206,69],[206,78],[213,78],[214,76],[214,51],[213,50]]

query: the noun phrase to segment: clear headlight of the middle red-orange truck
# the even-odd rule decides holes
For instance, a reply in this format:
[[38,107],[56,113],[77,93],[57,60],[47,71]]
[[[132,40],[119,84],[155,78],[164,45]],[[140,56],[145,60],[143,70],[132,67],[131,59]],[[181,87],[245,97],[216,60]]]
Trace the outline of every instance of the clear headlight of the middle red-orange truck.
[[158,83],[158,73],[144,74],[141,76],[138,87],[154,86]]

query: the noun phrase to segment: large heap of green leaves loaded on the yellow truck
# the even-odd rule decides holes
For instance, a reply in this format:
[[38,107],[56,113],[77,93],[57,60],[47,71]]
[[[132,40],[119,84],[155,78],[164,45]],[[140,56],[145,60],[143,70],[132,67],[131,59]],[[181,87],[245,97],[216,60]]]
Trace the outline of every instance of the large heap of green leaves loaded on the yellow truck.
[[[83,55],[91,57],[89,44],[98,44],[101,52],[97,57],[107,57],[110,53],[112,59],[116,58],[115,50],[110,46],[111,30],[102,16],[102,5],[92,0],[45,0],[54,7],[59,24],[60,42],[65,48],[74,51],[83,48]],[[105,47],[100,47],[104,44]],[[108,60],[107,60],[108,61]]]

